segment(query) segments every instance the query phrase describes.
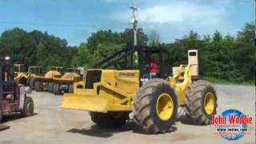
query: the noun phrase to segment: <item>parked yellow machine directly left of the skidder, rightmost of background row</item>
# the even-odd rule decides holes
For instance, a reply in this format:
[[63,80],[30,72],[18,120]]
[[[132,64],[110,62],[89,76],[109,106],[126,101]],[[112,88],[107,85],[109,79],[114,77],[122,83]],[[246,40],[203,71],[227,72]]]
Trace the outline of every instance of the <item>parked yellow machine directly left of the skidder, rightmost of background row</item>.
[[48,91],[53,92],[56,95],[63,93],[73,93],[74,82],[82,80],[80,76],[80,70],[76,68],[68,68],[68,72],[61,78],[54,77],[54,82],[50,82],[48,85]]

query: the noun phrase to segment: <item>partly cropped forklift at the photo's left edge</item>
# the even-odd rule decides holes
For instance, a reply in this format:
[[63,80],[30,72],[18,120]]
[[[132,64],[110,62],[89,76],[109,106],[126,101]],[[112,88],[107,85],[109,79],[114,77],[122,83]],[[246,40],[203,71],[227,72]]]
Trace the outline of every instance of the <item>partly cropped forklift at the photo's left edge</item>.
[[29,87],[18,86],[14,81],[10,57],[0,58],[0,122],[5,114],[20,112],[24,117],[34,114],[33,99],[26,96],[30,93]]

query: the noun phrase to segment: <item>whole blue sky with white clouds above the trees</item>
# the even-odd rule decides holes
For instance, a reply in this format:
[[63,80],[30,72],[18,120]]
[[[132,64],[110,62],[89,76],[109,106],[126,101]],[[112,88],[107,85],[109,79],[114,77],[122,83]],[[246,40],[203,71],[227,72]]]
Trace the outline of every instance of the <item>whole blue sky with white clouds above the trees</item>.
[[66,38],[71,46],[97,30],[131,27],[129,6],[138,6],[138,26],[174,42],[189,30],[235,35],[254,22],[254,0],[0,0],[0,33],[14,27]]

